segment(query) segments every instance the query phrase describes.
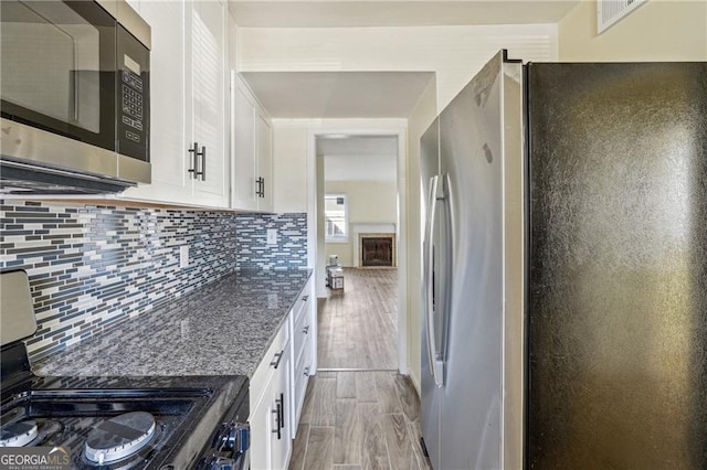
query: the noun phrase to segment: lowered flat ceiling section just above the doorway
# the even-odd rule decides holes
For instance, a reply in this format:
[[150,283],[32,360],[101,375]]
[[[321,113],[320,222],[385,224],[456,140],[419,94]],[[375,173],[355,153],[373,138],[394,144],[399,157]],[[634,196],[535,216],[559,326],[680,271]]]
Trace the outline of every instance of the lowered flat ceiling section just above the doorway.
[[432,72],[244,72],[272,118],[408,118]]

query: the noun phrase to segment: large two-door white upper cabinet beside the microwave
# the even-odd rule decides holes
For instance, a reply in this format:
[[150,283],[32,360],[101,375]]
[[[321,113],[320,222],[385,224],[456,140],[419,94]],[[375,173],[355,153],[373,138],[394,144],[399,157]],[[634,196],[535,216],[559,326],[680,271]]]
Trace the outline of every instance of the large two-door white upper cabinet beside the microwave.
[[228,207],[226,6],[220,0],[130,4],[152,29],[152,183],[123,196]]

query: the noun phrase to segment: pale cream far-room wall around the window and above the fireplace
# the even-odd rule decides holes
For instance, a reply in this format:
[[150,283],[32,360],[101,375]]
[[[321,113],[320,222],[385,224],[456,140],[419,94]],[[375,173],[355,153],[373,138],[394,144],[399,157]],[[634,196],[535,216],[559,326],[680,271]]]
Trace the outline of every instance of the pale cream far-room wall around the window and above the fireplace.
[[[326,157],[325,157],[326,175]],[[346,194],[349,205],[348,243],[327,243],[326,259],[338,255],[342,266],[356,266],[354,224],[392,224],[398,220],[398,185],[395,181],[325,181],[327,193]]]

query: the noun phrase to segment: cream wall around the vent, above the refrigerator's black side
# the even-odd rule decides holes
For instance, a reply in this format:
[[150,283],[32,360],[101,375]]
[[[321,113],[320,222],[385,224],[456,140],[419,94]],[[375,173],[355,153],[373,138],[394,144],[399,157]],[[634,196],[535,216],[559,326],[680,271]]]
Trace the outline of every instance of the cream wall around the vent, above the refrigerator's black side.
[[707,1],[648,0],[602,34],[597,1],[583,0],[559,23],[567,62],[707,60]]

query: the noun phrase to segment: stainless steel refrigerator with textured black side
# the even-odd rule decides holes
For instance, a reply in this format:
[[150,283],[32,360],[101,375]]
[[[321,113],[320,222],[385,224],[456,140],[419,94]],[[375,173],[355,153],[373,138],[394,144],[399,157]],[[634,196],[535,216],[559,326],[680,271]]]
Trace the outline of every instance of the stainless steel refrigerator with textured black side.
[[707,63],[499,52],[421,139],[436,470],[707,467]]

